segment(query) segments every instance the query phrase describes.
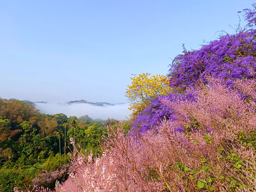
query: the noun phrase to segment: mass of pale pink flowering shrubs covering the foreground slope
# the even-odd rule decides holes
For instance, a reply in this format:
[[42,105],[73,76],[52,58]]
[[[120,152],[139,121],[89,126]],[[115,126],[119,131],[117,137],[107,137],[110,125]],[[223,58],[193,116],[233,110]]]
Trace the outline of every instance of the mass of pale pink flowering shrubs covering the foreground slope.
[[[256,94],[254,80],[237,85]],[[256,190],[255,100],[241,99],[219,80],[190,92],[196,102],[161,100],[175,109],[176,121],[164,120],[157,133],[124,137],[121,127],[109,127],[103,155],[78,153],[58,191]]]

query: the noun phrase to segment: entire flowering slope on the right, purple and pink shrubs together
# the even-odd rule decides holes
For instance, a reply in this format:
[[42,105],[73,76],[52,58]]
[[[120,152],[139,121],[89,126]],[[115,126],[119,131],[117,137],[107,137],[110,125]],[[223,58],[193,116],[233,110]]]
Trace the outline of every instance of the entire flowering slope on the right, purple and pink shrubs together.
[[56,191],[255,191],[253,7],[244,10],[247,29],[177,56],[171,94],[148,101],[130,132],[108,126],[101,156],[76,148]]

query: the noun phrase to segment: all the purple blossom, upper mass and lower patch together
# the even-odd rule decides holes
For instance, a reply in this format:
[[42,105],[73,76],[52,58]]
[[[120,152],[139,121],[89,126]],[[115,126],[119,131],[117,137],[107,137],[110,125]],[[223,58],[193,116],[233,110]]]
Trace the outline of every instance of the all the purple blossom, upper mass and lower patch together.
[[[132,132],[146,132],[159,125],[164,118],[175,120],[172,108],[162,100],[192,99],[187,90],[198,84],[207,84],[210,76],[222,80],[230,89],[236,89],[238,80],[254,79],[255,41],[256,30],[244,30],[236,35],[222,36],[199,50],[184,50],[183,54],[175,57],[168,73],[170,86],[177,93],[153,100],[132,121]],[[245,95],[242,93],[241,96],[244,98]]]

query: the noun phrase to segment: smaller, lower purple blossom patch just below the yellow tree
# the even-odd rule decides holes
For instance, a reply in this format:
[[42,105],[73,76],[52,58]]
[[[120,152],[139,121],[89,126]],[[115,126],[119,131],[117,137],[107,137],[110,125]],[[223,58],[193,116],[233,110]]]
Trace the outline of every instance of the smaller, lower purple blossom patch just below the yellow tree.
[[165,118],[170,121],[175,121],[175,111],[173,108],[166,105],[164,101],[179,102],[181,100],[196,101],[191,93],[170,94],[163,97],[158,97],[153,100],[136,118],[132,121],[131,134],[137,132],[145,133],[147,130],[160,125]]

